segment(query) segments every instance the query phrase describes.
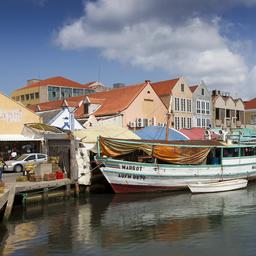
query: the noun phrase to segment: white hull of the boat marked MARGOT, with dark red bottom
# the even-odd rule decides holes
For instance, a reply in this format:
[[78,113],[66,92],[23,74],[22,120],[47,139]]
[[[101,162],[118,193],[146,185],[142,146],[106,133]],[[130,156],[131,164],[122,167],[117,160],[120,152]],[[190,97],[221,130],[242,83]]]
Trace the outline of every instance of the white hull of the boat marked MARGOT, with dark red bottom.
[[104,164],[101,171],[115,193],[181,190],[198,182],[256,179],[255,157],[227,159],[222,165],[157,165],[110,158],[100,161]]

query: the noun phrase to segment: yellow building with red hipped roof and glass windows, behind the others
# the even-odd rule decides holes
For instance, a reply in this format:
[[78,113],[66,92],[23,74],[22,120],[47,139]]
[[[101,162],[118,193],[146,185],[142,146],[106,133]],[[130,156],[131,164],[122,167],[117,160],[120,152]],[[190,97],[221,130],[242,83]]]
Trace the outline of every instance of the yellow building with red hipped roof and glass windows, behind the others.
[[93,86],[96,87],[97,84],[97,82],[80,84],[64,77],[31,79],[26,86],[15,90],[11,97],[24,105],[39,104],[93,93]]

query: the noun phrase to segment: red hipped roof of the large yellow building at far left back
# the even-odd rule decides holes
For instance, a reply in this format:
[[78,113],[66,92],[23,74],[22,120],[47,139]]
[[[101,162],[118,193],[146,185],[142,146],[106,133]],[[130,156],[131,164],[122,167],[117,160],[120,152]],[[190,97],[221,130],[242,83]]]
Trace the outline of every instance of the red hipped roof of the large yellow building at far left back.
[[26,89],[26,88],[33,88],[33,87],[40,87],[40,86],[47,86],[47,85],[90,89],[89,84],[84,84],[83,85],[83,84],[77,83],[73,80],[67,79],[65,77],[56,76],[56,77],[51,77],[51,78],[48,78],[48,79],[41,80],[39,82],[28,84],[26,86],[23,86],[23,87],[17,89],[16,91]]

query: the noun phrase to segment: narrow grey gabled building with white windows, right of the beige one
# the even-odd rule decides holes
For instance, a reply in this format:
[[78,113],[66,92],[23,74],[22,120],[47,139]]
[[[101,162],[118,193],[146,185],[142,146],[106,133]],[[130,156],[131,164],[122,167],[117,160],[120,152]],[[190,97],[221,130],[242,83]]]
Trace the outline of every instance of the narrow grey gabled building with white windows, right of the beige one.
[[207,128],[212,126],[212,96],[202,81],[199,85],[190,86],[193,93],[193,127]]

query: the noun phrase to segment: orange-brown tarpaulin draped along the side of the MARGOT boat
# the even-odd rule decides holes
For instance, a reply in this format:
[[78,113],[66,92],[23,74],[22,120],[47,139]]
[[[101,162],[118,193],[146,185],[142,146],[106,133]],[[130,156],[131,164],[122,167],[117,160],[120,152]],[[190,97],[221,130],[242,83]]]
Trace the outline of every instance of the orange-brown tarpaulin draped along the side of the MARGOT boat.
[[152,145],[145,141],[132,143],[103,137],[100,137],[99,143],[102,154],[106,156],[117,157],[136,150],[142,150],[152,157],[173,164],[200,164],[210,152],[209,147]]

